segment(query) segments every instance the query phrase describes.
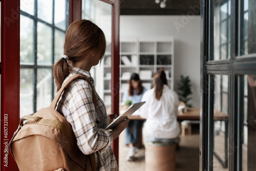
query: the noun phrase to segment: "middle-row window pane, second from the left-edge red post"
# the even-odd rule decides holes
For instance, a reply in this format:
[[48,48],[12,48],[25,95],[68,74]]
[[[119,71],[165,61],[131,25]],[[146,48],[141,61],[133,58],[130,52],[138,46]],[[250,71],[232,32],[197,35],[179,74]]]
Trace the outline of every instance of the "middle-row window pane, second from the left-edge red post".
[[37,24],[37,63],[52,65],[52,29],[44,24]]

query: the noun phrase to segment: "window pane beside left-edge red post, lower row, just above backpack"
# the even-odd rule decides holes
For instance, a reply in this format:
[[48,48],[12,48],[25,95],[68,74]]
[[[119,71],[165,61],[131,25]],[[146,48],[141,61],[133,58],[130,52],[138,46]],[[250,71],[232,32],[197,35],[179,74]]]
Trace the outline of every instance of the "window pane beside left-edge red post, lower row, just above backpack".
[[20,69],[20,118],[33,114],[33,69]]

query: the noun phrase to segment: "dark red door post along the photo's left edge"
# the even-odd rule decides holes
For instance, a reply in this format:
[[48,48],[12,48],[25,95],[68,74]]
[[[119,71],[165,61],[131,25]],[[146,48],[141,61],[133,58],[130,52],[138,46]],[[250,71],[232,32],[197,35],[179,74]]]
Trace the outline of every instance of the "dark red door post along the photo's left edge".
[[19,123],[19,0],[2,0],[1,20],[1,170],[4,171],[18,170],[12,156],[5,156],[5,150]]

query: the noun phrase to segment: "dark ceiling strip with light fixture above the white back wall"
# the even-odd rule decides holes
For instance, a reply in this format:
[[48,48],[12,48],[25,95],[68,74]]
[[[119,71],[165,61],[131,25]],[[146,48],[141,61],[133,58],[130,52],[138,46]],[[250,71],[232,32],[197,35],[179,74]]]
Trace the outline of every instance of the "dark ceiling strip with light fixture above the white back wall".
[[155,0],[120,0],[121,15],[200,15],[200,0],[166,0],[160,8]]

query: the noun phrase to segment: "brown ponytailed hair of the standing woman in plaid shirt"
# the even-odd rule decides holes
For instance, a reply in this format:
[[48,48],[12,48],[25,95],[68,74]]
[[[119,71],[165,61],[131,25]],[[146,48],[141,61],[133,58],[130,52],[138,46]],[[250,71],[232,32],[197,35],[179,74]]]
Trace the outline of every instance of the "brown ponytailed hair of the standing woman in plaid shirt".
[[[103,31],[90,20],[80,19],[69,26],[64,44],[64,55],[69,62],[76,63],[83,57],[99,53],[103,57],[106,49],[106,40]],[[61,88],[64,79],[72,72],[65,58],[60,58],[53,67],[53,77],[57,91]]]

